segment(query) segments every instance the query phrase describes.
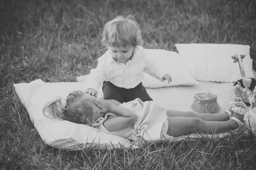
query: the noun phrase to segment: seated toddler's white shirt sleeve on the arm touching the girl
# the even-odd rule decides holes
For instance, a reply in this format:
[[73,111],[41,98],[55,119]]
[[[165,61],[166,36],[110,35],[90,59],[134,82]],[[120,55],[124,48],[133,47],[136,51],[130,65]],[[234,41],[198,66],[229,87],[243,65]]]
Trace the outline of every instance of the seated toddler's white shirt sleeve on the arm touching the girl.
[[89,79],[88,82],[86,82],[87,89],[93,88],[98,91],[99,87],[102,85],[102,82],[105,80],[105,57],[106,54],[104,54],[102,57],[99,57],[97,67],[90,70]]

